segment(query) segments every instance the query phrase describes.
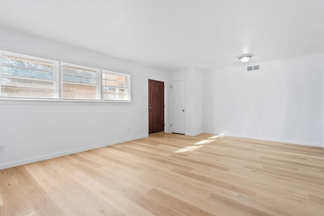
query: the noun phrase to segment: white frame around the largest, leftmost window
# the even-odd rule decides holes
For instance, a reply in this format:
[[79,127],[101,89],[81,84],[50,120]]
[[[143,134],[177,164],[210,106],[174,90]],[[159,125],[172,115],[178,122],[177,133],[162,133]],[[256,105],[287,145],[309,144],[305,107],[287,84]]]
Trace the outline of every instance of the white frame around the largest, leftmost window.
[[[30,78],[28,79],[28,76],[21,76],[21,78],[25,78],[26,80],[38,80],[38,81],[48,81],[48,82],[52,82],[54,83],[54,94],[56,95],[56,97],[20,97],[20,96],[5,96],[3,95],[4,91],[0,90],[0,99],[16,99],[16,100],[21,100],[21,99],[26,99],[26,100],[60,100],[60,81],[59,81],[59,62],[55,61],[55,60],[51,60],[51,59],[45,59],[45,58],[39,58],[39,57],[35,57],[35,56],[29,56],[29,55],[24,55],[24,54],[19,54],[19,53],[13,53],[13,52],[8,52],[8,51],[4,51],[4,50],[0,50],[0,55],[3,56],[11,56],[11,57],[16,57],[16,58],[21,58],[21,59],[26,59],[26,60],[30,60],[30,61],[37,61],[37,62],[44,62],[44,63],[49,63],[49,64],[53,64],[54,66],[54,79],[50,80],[50,79],[42,79],[42,78]],[[4,70],[4,64],[3,62],[1,62],[0,60],[0,87],[3,84],[4,81],[4,77],[3,77],[3,70]],[[27,69],[21,67],[22,69]],[[31,69],[31,68],[29,68]],[[37,69],[38,70],[38,69]],[[12,77],[17,77],[19,78],[20,76],[12,76]]]

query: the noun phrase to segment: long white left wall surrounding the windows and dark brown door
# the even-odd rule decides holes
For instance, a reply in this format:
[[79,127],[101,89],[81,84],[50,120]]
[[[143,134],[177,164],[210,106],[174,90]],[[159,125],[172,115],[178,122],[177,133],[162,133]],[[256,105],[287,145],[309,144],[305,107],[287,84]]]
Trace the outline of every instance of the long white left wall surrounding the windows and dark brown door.
[[[148,79],[168,84],[167,72],[8,29],[0,32],[1,50],[128,73],[132,89],[131,103],[0,100],[0,145],[5,145],[0,169],[148,136]],[[166,88],[166,131],[169,96]]]

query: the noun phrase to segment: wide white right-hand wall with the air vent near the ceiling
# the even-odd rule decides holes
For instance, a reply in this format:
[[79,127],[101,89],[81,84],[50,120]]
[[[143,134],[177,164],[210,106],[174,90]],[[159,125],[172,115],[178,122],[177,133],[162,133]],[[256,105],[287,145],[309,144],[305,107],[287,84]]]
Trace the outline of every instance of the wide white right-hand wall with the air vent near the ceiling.
[[[204,131],[324,147],[323,59],[321,54],[204,73]],[[248,72],[250,65],[260,70]]]

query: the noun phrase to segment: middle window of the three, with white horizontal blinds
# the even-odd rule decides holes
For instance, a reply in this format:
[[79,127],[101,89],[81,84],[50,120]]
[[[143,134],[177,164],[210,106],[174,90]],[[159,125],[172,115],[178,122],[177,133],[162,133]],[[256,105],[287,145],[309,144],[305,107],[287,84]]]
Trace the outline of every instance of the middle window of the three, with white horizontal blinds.
[[100,100],[99,72],[96,68],[62,63],[62,98]]

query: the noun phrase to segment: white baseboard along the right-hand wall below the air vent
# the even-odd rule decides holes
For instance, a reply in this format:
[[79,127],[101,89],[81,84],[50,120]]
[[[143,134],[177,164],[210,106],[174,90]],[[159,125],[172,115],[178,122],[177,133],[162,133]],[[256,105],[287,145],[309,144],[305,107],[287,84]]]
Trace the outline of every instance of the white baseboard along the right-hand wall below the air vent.
[[[204,131],[204,133],[214,134],[214,135],[224,134],[224,133],[212,132],[212,131]],[[265,141],[273,141],[273,142],[280,142],[280,143],[290,143],[290,144],[305,145],[305,146],[324,147],[324,143],[289,140],[289,139],[281,139],[281,138],[268,138],[268,137],[258,137],[258,136],[241,135],[241,134],[224,134],[224,136],[247,138],[247,139],[254,139],[254,140],[265,140]]]

